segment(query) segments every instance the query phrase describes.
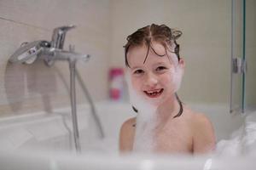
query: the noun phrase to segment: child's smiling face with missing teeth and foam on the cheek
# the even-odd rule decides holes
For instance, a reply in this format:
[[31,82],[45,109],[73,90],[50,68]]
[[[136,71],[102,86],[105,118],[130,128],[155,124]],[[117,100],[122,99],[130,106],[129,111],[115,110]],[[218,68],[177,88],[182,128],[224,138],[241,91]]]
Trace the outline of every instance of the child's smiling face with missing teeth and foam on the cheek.
[[[166,48],[160,43],[154,42],[152,47],[157,54],[166,54]],[[137,94],[143,96],[150,103],[160,105],[175,94],[176,85],[174,74],[176,68],[182,66],[183,60],[177,61],[176,54],[168,52],[168,56],[160,57],[155,54],[152,48],[149,48],[148,58],[144,59],[148,47],[133,47],[127,53],[127,60],[131,68],[128,68],[131,74],[131,85]]]

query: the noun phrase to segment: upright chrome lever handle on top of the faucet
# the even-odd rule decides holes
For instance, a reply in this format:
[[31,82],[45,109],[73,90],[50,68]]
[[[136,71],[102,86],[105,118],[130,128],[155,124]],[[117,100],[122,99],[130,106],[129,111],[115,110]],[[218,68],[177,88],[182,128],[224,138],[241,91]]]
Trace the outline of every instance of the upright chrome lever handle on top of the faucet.
[[51,38],[51,47],[63,49],[66,32],[75,27],[76,26],[74,25],[70,25],[70,26],[61,26],[61,27],[55,28]]

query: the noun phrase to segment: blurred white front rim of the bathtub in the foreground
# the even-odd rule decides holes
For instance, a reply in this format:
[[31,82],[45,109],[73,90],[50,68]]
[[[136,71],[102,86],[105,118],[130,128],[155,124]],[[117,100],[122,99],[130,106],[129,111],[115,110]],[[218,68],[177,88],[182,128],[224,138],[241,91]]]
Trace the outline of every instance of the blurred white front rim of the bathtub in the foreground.
[[[247,169],[253,169],[255,167],[255,156],[236,156],[236,157],[216,157],[212,155],[205,156],[183,156],[183,155],[102,155],[102,154],[53,154],[41,152],[1,152],[0,157],[6,159],[32,161],[32,162],[44,162],[49,165],[54,164],[56,167],[102,167],[99,169],[120,169],[120,167],[128,166],[132,169],[143,169],[142,166],[153,166],[147,169],[159,169],[160,167],[186,167],[184,169],[219,169],[220,167],[248,167]],[[210,161],[210,167],[209,165]],[[148,165],[149,164],[149,165]],[[205,168],[208,166],[208,168]],[[56,168],[59,169],[59,168]],[[60,168],[62,169],[62,168]],[[67,169],[67,168],[64,168]],[[110,169],[110,168],[109,168]],[[126,168],[125,168],[126,169]],[[129,168],[128,168],[129,169]],[[222,169],[222,168],[220,168]]]

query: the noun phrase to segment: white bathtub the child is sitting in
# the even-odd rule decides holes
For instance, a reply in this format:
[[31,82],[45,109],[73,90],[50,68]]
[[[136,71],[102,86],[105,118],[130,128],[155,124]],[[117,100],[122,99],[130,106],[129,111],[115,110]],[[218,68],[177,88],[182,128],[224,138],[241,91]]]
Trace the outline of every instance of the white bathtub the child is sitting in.
[[[226,105],[189,104],[212,121],[218,141],[244,122],[230,115]],[[255,169],[255,156],[153,156],[125,155],[118,151],[119,128],[136,116],[125,102],[96,103],[104,139],[90,114],[89,105],[78,105],[81,153],[76,153],[70,108],[0,119],[0,169]]]

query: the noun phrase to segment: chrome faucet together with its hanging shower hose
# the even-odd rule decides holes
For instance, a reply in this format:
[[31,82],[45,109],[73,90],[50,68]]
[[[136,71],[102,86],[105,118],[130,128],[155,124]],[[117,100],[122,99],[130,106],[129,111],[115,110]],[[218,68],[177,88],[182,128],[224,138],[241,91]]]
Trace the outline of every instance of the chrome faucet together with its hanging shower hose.
[[[75,77],[78,76],[76,70],[76,63],[78,60],[87,61],[90,58],[89,54],[78,54],[74,52],[74,48],[70,46],[69,50],[63,50],[65,37],[67,31],[73,29],[75,26],[61,26],[57,27],[53,31],[51,42],[45,40],[39,40],[34,42],[23,42],[21,47],[15,51],[9,58],[10,63],[26,63],[32,64],[36,59],[44,59],[44,63],[48,66],[52,66],[55,60],[67,60],[69,63],[70,71],[70,99],[71,99],[71,109],[72,109],[72,121],[73,121],[73,136],[75,148],[80,152],[81,147],[79,144],[79,128],[78,119],[76,111],[76,90],[75,90]],[[79,80],[82,87],[84,84]],[[88,93],[85,93],[88,95]],[[90,96],[86,96],[90,98]],[[100,133],[103,137],[102,126],[96,116],[94,111],[94,106],[91,104],[92,114],[96,118],[96,123],[100,129]]]

